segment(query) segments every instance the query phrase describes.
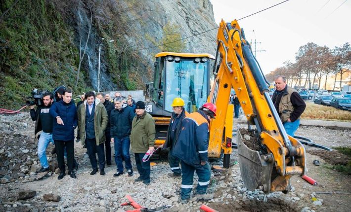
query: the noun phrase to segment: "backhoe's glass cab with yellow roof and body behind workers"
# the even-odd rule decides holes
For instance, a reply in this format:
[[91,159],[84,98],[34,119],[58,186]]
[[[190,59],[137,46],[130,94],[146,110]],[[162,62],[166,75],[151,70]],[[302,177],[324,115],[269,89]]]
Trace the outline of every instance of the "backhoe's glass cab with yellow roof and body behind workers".
[[[208,102],[210,83],[214,80],[212,69],[215,57],[211,54],[175,52],[161,52],[155,57],[154,81],[147,84],[146,96],[150,101],[145,109],[155,120],[155,146],[160,146],[166,140],[167,128],[173,111],[171,105],[176,97],[184,100],[184,108],[189,113],[197,111],[200,106]],[[229,95],[226,104],[228,101]],[[210,139],[209,141],[209,157],[219,158],[224,152],[226,168],[229,167],[231,153],[232,114],[233,109],[229,111],[228,123],[226,123],[228,125],[226,136],[230,138],[229,147],[222,144],[224,141],[222,135],[219,140]],[[223,128],[223,124],[221,125]],[[225,146],[225,150],[222,146]]]

